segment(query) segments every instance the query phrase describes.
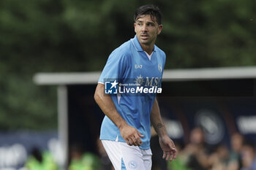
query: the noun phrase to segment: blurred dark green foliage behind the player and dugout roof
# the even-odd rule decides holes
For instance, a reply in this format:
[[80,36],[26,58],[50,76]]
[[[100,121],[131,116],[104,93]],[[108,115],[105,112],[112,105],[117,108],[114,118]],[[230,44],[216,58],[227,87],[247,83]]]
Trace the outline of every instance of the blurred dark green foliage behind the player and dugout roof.
[[143,4],[164,15],[165,69],[256,65],[255,0],[1,0],[0,131],[56,128],[56,88],[33,75],[102,70]]

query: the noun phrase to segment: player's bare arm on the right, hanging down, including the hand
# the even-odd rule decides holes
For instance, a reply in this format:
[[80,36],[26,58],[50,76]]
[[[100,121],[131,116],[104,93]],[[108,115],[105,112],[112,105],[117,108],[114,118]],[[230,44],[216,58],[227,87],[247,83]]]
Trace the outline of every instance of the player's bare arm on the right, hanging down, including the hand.
[[151,109],[151,124],[159,136],[159,144],[163,151],[162,158],[166,161],[169,159],[170,161],[173,161],[173,159],[176,159],[177,150],[173,140],[167,135],[164,123],[162,123],[157,98],[154,100],[154,104]]

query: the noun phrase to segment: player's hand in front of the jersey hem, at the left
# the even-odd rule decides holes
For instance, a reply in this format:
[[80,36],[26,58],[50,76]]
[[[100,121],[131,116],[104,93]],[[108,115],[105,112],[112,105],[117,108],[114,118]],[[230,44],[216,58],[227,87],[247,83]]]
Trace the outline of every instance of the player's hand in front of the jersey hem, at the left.
[[140,137],[144,136],[140,134],[140,132],[136,128],[133,128],[132,126],[126,124],[119,128],[119,130],[123,139],[130,146],[140,146],[141,144],[143,144]]

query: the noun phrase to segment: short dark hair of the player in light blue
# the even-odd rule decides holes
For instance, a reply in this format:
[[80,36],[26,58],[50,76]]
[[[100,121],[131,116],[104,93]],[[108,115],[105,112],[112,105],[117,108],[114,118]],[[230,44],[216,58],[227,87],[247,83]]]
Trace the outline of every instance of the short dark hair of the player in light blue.
[[157,23],[162,23],[162,12],[160,11],[159,7],[154,6],[153,4],[146,4],[136,9],[134,16],[135,22],[138,20],[138,18],[140,18],[140,15],[150,15],[152,20],[154,20],[154,17],[156,17]]

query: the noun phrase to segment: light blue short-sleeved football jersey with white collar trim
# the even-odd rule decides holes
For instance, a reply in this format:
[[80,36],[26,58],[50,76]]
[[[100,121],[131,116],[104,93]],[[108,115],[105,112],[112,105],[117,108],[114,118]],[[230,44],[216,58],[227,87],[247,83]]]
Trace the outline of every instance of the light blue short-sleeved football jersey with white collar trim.
[[[165,53],[154,45],[151,60],[138,42],[137,36],[116,48],[110,54],[105,68],[99,77],[99,83],[106,80],[118,80],[120,83],[143,83],[144,86],[154,87],[160,85],[165,66]],[[150,148],[151,122],[150,113],[156,94],[147,95],[112,95],[111,98],[118,113],[129,125],[137,128],[143,144],[140,149]],[[118,127],[107,117],[104,117],[99,139],[125,142]]]

